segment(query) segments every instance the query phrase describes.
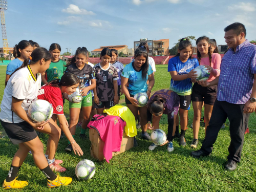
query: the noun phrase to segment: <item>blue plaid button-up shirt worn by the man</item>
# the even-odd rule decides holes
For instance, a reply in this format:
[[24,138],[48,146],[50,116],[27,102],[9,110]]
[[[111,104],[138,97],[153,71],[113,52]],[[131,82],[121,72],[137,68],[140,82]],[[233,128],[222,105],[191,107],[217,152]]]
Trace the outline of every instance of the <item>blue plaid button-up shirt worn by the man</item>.
[[229,49],[222,58],[220,69],[217,99],[233,104],[246,103],[256,73],[256,46],[246,40],[236,52]]

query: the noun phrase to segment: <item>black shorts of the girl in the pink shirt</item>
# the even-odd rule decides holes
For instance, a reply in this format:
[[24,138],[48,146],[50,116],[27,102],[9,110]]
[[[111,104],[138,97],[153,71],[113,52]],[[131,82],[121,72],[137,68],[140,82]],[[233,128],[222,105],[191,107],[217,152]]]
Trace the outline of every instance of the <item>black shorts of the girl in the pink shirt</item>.
[[194,83],[191,100],[203,101],[204,104],[214,105],[217,98],[217,85],[210,87],[202,87],[197,82]]

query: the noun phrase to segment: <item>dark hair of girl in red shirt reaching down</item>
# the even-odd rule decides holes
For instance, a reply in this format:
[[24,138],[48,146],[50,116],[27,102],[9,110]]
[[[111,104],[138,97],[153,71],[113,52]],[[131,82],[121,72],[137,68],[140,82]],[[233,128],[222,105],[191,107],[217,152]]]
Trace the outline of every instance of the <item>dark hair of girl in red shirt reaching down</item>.
[[60,86],[67,86],[67,87],[71,87],[74,86],[74,84],[79,83],[80,85],[80,81],[77,78],[77,76],[73,73],[65,73],[61,79],[55,79],[52,80],[50,82],[47,83],[47,85],[50,85],[52,87],[60,87]]

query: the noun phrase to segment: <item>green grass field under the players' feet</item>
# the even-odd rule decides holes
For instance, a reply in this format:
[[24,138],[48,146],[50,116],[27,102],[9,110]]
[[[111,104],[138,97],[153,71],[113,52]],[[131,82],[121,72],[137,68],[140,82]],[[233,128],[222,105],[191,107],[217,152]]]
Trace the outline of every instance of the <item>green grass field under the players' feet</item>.
[[[6,67],[0,67],[0,98],[4,93]],[[168,88],[170,75],[166,66],[157,66],[155,75],[155,87],[153,91]],[[124,97],[121,97],[121,103]],[[69,109],[66,103],[65,113],[68,117]],[[193,109],[189,111],[189,125],[193,120]],[[160,121],[160,129],[167,132],[167,116]],[[226,122],[228,124],[228,121]],[[61,176],[73,178],[73,182],[66,187],[48,189],[47,180],[35,166],[32,156],[29,154],[23,166],[20,168],[18,180],[29,181],[24,191],[256,191],[256,118],[251,114],[249,120],[250,133],[245,135],[242,161],[234,172],[224,169],[228,155],[230,142],[229,129],[221,129],[219,137],[214,145],[214,151],[210,157],[194,159],[189,156],[193,151],[189,145],[193,140],[193,130],[188,129],[185,135],[187,146],[179,146],[174,140],[174,152],[168,153],[166,147],[157,147],[149,151],[150,141],[141,139],[141,130],[138,130],[138,147],[119,154],[110,160],[98,162],[90,156],[91,142],[89,139],[75,139],[81,146],[84,155],[82,157],[67,154],[64,149],[68,144],[66,138],[59,141],[56,159],[63,160],[63,167],[67,168]],[[199,147],[204,138],[203,127],[200,127]],[[0,126],[0,132],[3,127]],[[77,130],[77,135],[80,130]],[[151,132],[151,131],[149,131]],[[89,133],[87,132],[89,135]],[[0,183],[4,181],[9,172],[12,157],[17,151],[17,145],[13,145],[7,137],[0,139]],[[46,146],[48,136],[40,138]],[[90,159],[96,164],[96,174],[89,181],[78,181],[75,176],[75,166],[82,159]],[[2,189],[0,189],[2,190]],[[18,191],[18,190],[13,190]]]

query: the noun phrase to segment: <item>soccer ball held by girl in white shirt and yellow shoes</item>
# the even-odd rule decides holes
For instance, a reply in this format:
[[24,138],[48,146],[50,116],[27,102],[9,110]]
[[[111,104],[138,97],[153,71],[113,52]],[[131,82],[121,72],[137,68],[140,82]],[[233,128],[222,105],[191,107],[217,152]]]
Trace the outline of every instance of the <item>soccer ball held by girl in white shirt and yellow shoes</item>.
[[38,99],[29,105],[28,115],[36,122],[47,121],[51,119],[52,114],[53,107],[46,100]]

